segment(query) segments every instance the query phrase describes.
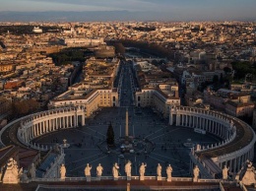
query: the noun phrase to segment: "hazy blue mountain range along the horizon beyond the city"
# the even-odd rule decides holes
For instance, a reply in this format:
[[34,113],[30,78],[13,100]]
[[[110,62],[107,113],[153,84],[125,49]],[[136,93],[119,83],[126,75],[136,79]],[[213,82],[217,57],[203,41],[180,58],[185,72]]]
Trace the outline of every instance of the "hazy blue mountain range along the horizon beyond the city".
[[[105,22],[105,21],[220,21],[220,17],[187,17],[184,13],[123,11],[47,11],[47,12],[0,12],[0,22]],[[230,19],[229,19],[230,20]],[[236,21],[256,21],[256,18],[233,18]],[[228,19],[224,19],[228,21]]]

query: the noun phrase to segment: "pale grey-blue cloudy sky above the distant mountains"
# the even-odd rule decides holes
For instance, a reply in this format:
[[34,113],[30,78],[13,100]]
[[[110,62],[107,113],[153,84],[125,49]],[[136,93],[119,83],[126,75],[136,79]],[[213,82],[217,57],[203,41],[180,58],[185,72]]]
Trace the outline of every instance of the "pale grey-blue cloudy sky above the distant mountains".
[[0,0],[0,12],[122,11],[175,20],[256,20],[256,0]]

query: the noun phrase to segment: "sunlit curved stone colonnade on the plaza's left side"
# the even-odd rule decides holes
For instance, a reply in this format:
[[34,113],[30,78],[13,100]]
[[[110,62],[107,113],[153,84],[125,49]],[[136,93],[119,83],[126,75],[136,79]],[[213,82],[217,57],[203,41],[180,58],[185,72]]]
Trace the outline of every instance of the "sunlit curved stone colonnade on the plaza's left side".
[[32,144],[32,140],[57,130],[85,125],[86,110],[83,106],[64,107],[34,113],[21,120],[17,138],[21,143],[33,149],[47,151],[50,148]]

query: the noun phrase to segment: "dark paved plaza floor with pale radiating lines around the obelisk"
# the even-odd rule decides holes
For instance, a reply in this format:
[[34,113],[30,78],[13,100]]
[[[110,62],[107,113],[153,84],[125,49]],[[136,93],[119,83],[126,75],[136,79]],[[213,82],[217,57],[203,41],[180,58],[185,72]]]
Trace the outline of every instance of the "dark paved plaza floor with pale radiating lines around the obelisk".
[[[35,140],[36,143],[54,145],[67,139],[70,147],[65,149],[65,164],[67,176],[84,176],[87,163],[93,165],[92,175],[96,175],[96,165],[101,163],[103,175],[111,175],[114,162],[120,165],[120,174],[124,173],[124,164],[129,159],[132,162],[132,175],[139,175],[138,168],[141,162],[147,163],[146,175],[156,175],[157,164],[162,166],[162,176],[165,176],[165,165],[171,164],[173,176],[188,176],[190,149],[183,146],[188,139],[192,143],[209,145],[220,140],[212,135],[201,135],[193,129],[167,125],[166,120],[153,112],[150,108],[142,108],[140,113],[134,107],[129,108],[129,135],[153,143],[153,150],[149,153],[111,152],[107,154],[98,148],[106,137],[108,123],[111,122],[116,141],[124,136],[125,107],[103,108],[94,119],[88,119],[84,127],[62,130]],[[137,114],[136,114],[137,113]],[[117,146],[119,147],[119,146]],[[118,151],[118,148],[116,148]]]

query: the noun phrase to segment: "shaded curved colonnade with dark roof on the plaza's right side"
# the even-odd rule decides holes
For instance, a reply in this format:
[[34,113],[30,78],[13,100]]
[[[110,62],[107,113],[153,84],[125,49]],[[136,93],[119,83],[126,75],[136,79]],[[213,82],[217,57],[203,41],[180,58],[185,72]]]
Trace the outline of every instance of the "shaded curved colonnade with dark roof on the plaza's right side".
[[220,173],[224,165],[229,167],[229,172],[236,173],[247,159],[254,157],[255,134],[248,124],[235,117],[218,111],[178,106],[170,108],[169,124],[197,128],[223,140],[215,145],[197,145],[191,153],[191,157],[213,176]]

